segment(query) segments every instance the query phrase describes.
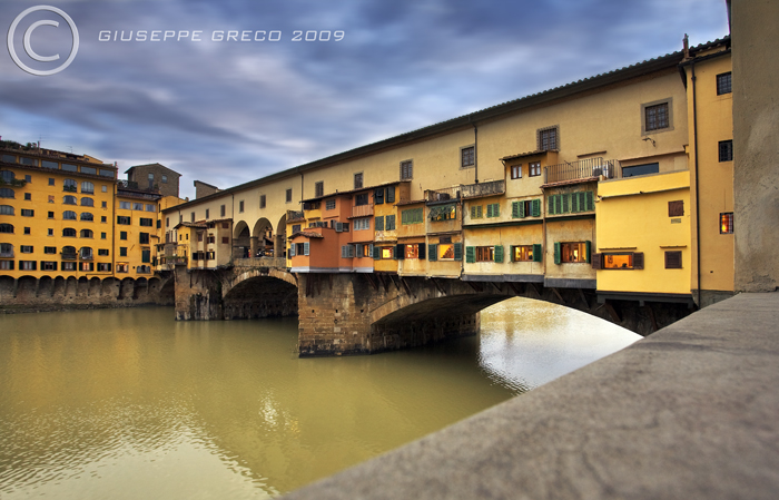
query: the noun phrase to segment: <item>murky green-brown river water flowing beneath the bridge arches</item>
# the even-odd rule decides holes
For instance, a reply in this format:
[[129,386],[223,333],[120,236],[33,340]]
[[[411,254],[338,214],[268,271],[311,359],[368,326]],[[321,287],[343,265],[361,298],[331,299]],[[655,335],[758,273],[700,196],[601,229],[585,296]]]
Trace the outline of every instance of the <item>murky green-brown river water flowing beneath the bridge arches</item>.
[[0,316],[0,498],[268,498],[639,339],[523,298],[430,347],[299,360],[296,336],[166,307]]

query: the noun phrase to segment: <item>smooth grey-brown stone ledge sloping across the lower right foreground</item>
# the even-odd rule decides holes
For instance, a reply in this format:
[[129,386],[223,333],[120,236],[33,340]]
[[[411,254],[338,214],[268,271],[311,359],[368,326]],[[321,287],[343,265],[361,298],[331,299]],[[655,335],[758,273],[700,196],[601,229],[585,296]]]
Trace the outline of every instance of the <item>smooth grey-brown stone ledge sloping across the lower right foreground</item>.
[[742,294],[287,499],[775,499],[779,293]]

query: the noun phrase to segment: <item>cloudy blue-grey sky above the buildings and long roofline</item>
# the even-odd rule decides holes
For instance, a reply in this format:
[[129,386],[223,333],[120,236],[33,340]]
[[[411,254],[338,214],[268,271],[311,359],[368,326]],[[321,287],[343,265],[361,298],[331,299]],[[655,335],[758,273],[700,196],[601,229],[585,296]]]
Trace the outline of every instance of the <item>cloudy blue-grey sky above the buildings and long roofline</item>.
[[78,50],[58,12],[16,22],[0,136],[190,198],[728,35],[724,0],[3,0],[2,43],[42,4]]

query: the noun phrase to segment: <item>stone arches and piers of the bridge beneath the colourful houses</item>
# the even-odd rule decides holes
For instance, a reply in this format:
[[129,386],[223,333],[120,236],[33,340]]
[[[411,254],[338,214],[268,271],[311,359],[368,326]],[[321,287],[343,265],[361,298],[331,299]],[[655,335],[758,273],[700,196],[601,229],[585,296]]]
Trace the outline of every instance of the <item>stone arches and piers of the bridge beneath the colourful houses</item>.
[[300,356],[373,354],[474,335],[480,311],[516,296],[583,311],[641,335],[692,312],[687,304],[599,301],[593,290],[540,283],[293,274],[283,258],[236,259],[233,267],[216,271],[176,269],[177,320],[297,315]]

